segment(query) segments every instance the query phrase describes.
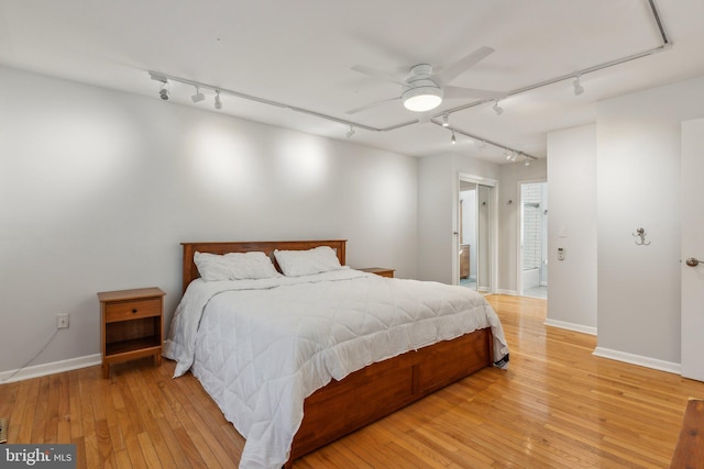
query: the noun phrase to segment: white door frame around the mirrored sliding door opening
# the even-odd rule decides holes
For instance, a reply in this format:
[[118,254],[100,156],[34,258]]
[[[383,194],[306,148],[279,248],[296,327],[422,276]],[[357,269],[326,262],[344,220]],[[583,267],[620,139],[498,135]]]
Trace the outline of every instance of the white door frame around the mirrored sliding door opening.
[[[460,284],[460,181],[476,183],[492,188],[493,212],[490,221],[490,291],[486,294],[495,293],[498,284],[498,180],[485,178],[482,176],[471,175],[469,172],[458,171],[454,180],[454,197],[452,199],[452,284]],[[477,198],[479,200],[479,198]],[[479,264],[477,264],[479,266]],[[479,289],[479,268],[477,268],[477,289]]]

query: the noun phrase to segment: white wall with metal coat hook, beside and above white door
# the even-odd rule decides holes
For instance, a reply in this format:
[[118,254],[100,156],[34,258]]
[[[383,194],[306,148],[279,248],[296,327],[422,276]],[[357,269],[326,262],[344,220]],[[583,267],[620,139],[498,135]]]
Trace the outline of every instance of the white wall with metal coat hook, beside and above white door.
[[704,77],[597,107],[600,353],[680,362],[680,122],[701,116]]

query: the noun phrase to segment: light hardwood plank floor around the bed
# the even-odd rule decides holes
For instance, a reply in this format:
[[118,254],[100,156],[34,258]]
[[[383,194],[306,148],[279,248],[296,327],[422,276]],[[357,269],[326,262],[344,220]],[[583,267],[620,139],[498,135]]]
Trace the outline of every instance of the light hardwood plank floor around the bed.
[[[485,369],[299,459],[295,468],[667,468],[704,383],[592,356],[543,325],[544,300],[487,297],[509,369]],[[0,386],[8,443],[75,443],[78,467],[237,467],[243,439],[174,364],[118,364]]]

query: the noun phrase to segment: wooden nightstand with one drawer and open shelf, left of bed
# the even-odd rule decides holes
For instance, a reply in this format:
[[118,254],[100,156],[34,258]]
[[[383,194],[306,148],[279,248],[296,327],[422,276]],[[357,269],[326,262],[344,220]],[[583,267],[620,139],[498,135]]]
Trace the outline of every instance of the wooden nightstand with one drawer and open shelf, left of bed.
[[162,364],[165,294],[158,288],[98,293],[103,378],[117,361],[153,355],[155,365]]

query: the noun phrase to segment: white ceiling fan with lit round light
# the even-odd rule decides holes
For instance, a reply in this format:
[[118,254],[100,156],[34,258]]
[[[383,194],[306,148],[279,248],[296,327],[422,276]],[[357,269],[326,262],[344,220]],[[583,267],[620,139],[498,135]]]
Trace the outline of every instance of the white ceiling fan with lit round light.
[[370,75],[372,77],[383,78],[393,83],[400,85],[403,88],[402,93],[398,97],[351,109],[348,111],[348,114],[356,114],[358,112],[396,100],[402,100],[404,107],[410,111],[427,112],[439,107],[443,99],[505,98],[506,93],[499,91],[452,87],[449,85],[465,70],[493,52],[494,49],[491,47],[480,47],[466,57],[463,57],[454,64],[438,71],[435,71],[432,66],[428,64],[418,64],[410,68],[410,76],[405,80],[383,71],[374,70],[364,65],[355,65],[352,67],[354,71]]

